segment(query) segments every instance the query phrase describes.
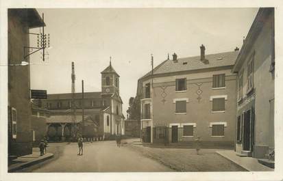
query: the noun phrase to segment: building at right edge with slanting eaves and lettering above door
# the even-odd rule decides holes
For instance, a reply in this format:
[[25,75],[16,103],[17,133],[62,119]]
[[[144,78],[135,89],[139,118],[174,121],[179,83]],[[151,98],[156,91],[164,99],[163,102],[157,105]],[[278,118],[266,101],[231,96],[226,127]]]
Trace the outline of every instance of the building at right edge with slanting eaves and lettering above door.
[[274,155],[274,8],[260,8],[236,59],[236,152]]

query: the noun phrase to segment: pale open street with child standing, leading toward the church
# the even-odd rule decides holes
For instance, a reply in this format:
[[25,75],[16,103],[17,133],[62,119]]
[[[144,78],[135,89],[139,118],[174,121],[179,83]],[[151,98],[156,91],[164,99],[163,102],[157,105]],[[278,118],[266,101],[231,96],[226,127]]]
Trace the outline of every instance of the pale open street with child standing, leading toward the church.
[[84,154],[77,156],[77,143],[49,143],[55,156],[49,161],[23,169],[23,172],[127,172],[173,171],[115,141],[84,143]]

